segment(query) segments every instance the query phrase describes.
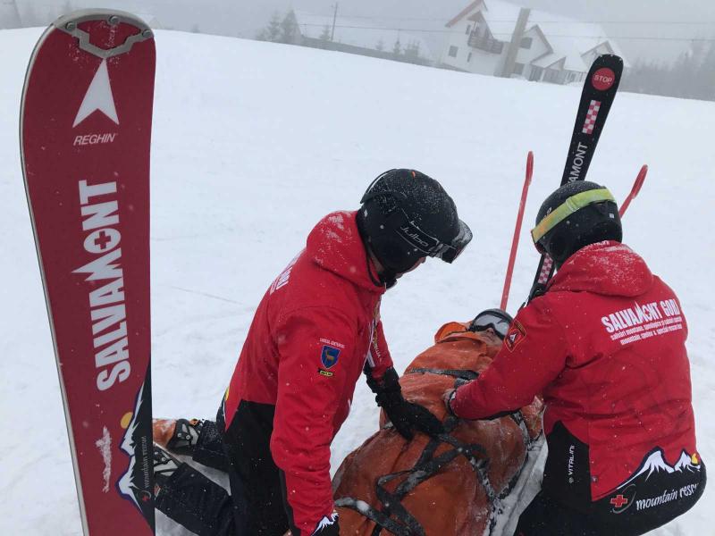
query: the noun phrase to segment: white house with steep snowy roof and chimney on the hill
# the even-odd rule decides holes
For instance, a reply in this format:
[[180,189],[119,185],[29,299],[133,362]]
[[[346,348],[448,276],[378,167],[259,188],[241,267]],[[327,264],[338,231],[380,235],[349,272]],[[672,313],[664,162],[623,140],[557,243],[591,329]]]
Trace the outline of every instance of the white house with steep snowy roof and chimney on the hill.
[[475,0],[447,28],[439,63],[457,71],[568,84],[600,54],[623,57],[599,24],[504,0]]

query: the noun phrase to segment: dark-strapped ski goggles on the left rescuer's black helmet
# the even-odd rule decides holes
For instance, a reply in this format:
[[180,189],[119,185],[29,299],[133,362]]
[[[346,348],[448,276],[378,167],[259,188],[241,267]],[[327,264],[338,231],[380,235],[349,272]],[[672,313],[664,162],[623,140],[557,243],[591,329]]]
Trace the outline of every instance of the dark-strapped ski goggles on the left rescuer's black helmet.
[[[390,192],[378,192],[371,194],[368,188],[365,196],[360,199],[360,203],[366,203],[370,199],[379,196],[392,196]],[[469,229],[467,223],[459,220],[459,230],[457,236],[450,240],[449,243],[443,242],[436,237],[433,237],[425,230],[421,230],[417,224],[410,219],[408,213],[401,207],[395,204],[391,209],[391,214],[387,216],[387,225],[394,229],[400,239],[405,240],[411,247],[415,248],[425,256],[437,257],[445,263],[453,263],[459,255],[461,255],[467,244],[473,238],[472,230]]]

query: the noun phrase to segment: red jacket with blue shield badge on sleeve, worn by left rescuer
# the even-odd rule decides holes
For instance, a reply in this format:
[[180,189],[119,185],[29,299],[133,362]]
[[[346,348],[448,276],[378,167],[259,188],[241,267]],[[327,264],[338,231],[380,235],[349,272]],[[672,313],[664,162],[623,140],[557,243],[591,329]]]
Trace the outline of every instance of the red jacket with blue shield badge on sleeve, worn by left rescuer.
[[256,438],[240,448],[268,445],[270,434],[265,456],[284,473],[291,525],[300,534],[312,533],[333,511],[330,445],[349,414],[360,373],[368,364],[379,379],[392,364],[380,322],[385,288],[374,282],[356,214],[325,216],[273,281],[224,398],[227,430],[243,418],[242,406],[271,408],[265,422],[239,423],[248,426],[243,441]]

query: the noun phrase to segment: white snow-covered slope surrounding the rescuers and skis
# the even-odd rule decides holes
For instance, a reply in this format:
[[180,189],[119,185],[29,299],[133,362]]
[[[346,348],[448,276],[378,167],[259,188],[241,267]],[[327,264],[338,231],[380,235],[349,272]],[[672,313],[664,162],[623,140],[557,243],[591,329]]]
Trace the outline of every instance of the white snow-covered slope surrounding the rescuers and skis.
[[[18,108],[39,29],[0,31],[0,533],[80,534],[52,342],[22,186]],[[509,310],[533,278],[528,229],[559,181],[578,88],[498,80],[307,48],[157,32],[152,154],[152,315],[156,415],[215,414],[254,307],[325,213],[355,208],[391,167],[441,180],[476,239],[383,300],[399,369],[443,322],[498,306],[524,174],[535,173]],[[625,241],[676,289],[702,457],[715,460],[715,296],[711,232],[715,104],[621,94],[589,178],[623,199],[651,172]],[[12,413],[11,413],[12,412]],[[334,467],[374,431],[358,385]],[[710,462],[712,463],[712,462]],[[715,490],[660,536],[711,531]],[[710,527],[710,528],[708,528]],[[184,534],[165,519],[160,533]]]

